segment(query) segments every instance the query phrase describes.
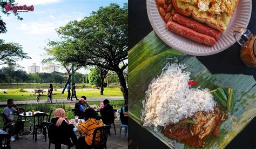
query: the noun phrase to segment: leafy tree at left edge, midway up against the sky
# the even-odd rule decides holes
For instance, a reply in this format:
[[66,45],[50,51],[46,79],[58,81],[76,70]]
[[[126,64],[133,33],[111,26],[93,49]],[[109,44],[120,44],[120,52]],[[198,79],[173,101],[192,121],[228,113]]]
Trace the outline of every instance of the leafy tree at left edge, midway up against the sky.
[[4,43],[4,40],[0,39],[0,65],[16,65],[18,60],[30,59],[27,54],[23,52],[21,45],[17,43]]

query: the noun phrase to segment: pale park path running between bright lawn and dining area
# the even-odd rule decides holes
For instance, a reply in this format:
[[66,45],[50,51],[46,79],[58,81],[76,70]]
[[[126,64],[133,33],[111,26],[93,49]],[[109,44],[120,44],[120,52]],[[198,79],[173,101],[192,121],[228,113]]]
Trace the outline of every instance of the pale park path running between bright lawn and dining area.
[[[109,100],[124,100],[124,97],[87,97],[87,101],[103,101],[104,99]],[[40,103],[46,103],[47,99],[40,100]],[[77,103],[77,100],[73,98],[73,101],[66,100],[66,98],[63,99],[53,99],[52,103],[61,103],[62,101],[65,101],[65,103]],[[14,104],[36,104],[36,100],[24,100],[24,101],[14,101]],[[6,101],[0,102],[0,105],[7,105]]]

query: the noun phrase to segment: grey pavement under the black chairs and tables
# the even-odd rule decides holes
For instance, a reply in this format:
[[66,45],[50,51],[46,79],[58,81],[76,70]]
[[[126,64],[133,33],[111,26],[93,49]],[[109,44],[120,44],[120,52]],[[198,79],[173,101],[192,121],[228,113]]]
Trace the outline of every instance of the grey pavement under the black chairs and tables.
[[[116,125],[116,132],[117,134],[114,134],[113,125],[110,128],[111,130],[111,136],[107,137],[107,148],[128,148],[128,134],[126,134],[126,137],[124,136],[124,128],[122,129],[121,137],[119,138],[119,116],[116,116],[115,119],[115,125]],[[25,131],[25,128],[24,128]],[[78,135],[78,133],[77,133]],[[47,140],[44,140],[44,137],[42,134],[37,134],[37,141],[35,142],[35,139],[32,138],[32,135],[26,139],[27,134],[23,134],[21,139],[18,139],[16,141],[11,142],[11,148],[48,148],[49,146],[49,139],[47,137]],[[79,137],[78,137],[79,138]],[[62,148],[67,148],[68,146],[62,145]],[[55,148],[54,144],[51,144],[51,148]],[[72,147],[72,149],[75,147]]]

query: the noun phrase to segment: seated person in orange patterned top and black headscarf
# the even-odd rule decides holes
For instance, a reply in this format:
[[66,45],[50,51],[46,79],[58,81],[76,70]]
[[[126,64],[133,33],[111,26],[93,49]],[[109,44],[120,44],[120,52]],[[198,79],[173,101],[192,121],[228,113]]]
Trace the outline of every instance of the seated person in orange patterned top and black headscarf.
[[[97,116],[98,114],[94,109],[87,109],[85,115],[89,119],[84,121],[84,123],[79,121],[77,126],[78,131],[80,131],[82,134],[86,134],[85,137],[80,137],[78,139],[78,148],[85,148],[88,145],[90,146],[92,144],[93,131],[95,128],[104,126],[102,119]],[[100,132],[97,132],[95,141],[99,141],[99,136]]]

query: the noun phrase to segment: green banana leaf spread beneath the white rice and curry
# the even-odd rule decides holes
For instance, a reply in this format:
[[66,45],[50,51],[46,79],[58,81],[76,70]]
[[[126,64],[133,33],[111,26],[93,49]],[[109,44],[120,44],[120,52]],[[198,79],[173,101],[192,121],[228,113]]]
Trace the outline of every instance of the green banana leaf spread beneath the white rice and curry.
[[[167,62],[186,65],[185,71],[191,72],[191,79],[197,82],[193,87],[207,87],[210,90],[218,86],[234,89],[234,111],[221,124],[218,138],[209,137],[205,148],[224,148],[256,115],[256,86],[252,76],[247,75],[212,75],[194,56],[188,56],[166,45],[153,31],[129,51],[129,113],[130,117],[142,126],[142,100],[151,80],[160,75]],[[167,146],[174,148],[192,148],[177,140],[167,138],[162,128],[154,131],[153,127],[144,127]]]

